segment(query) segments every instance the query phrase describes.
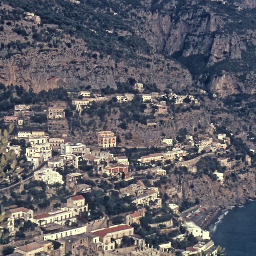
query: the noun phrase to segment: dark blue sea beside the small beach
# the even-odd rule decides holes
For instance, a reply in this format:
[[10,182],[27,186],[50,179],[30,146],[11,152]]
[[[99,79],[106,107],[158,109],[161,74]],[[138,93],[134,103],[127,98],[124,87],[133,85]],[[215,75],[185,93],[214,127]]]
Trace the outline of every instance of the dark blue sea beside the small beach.
[[256,201],[225,212],[211,237],[227,256],[256,256]]

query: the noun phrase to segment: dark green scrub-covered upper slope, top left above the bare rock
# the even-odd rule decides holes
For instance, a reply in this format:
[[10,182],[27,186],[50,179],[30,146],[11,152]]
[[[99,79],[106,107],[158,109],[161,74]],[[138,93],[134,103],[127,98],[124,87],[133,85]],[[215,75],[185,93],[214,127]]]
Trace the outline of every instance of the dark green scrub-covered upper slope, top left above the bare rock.
[[[112,55],[117,61],[120,58],[134,58],[137,53],[150,53],[151,51],[146,40],[136,35],[132,29],[135,22],[129,19],[128,14],[129,9],[134,6],[132,2],[127,1],[129,4],[125,8],[126,10],[120,8],[120,5],[124,3],[116,1],[81,1],[79,5],[57,0],[53,0],[51,3],[35,0],[7,2],[19,11],[8,12],[8,16],[2,17],[3,22],[5,20],[20,20],[23,18],[24,11],[33,11],[40,16],[41,24],[57,26],[57,29],[47,28],[47,30],[40,31],[34,28],[32,38],[37,42],[56,47],[60,42],[55,39],[56,33],[60,29],[61,35],[76,36],[82,39],[92,51]],[[137,2],[139,3],[139,1]],[[131,3],[132,5],[129,6]],[[117,15],[114,15],[113,12]],[[111,33],[107,30],[114,32]],[[119,33],[119,31],[123,33]],[[27,36],[27,32],[22,28],[16,28],[15,32]],[[108,44],[105,44],[106,41]],[[67,42],[66,45],[70,48],[72,41]]]

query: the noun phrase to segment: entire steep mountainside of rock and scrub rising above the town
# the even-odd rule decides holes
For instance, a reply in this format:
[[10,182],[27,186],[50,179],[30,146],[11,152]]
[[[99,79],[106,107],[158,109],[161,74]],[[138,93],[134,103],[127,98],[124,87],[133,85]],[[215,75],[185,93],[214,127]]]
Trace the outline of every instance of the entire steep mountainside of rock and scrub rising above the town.
[[5,84],[115,88],[133,77],[221,96],[255,90],[253,1],[6,0],[0,12]]

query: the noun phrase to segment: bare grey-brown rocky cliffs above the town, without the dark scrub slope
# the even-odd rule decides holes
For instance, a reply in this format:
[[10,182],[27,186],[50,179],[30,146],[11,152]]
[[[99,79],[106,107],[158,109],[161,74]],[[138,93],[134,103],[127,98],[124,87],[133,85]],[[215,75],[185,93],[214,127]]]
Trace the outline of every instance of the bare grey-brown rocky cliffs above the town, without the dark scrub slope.
[[[117,81],[123,82],[133,77],[144,83],[155,82],[160,89],[170,86],[176,91],[182,91],[197,85],[200,88],[208,87],[221,96],[227,93],[252,93],[255,90],[255,30],[247,30],[247,17],[244,17],[245,12],[241,8],[248,8],[248,20],[253,19],[254,2],[226,1],[226,5],[223,5],[200,0],[147,0],[140,2],[141,5],[135,9],[127,5],[130,6],[127,13],[134,31],[132,34],[144,38],[152,50],[150,54],[137,51],[136,58],[120,57],[118,61],[111,54],[99,57],[101,52],[91,51],[79,38],[79,33],[61,33],[58,26],[49,22],[44,24],[44,17],[41,17],[42,25],[37,28],[24,19],[12,21],[8,26],[5,21],[4,31],[0,31],[5,45],[0,54],[0,82],[22,84],[38,92],[58,86],[77,87],[88,84],[93,88],[115,88]],[[125,3],[115,2],[126,10]],[[238,6],[241,8],[238,9]],[[2,11],[12,10],[8,5],[2,5],[1,8]],[[19,13],[23,15],[24,7],[20,8]],[[103,15],[103,9],[97,10]],[[24,29],[26,36],[14,32],[17,27]],[[35,33],[46,33],[53,28],[57,29],[55,41],[50,44],[45,40],[38,41]],[[113,33],[120,34],[120,31]],[[120,38],[117,37],[118,40]],[[17,45],[12,49],[8,44],[15,40],[20,44],[29,42],[31,47],[18,50]],[[56,40],[61,42],[54,48],[52,44]],[[69,47],[67,44],[70,44]],[[108,42],[105,41],[105,44]],[[127,48],[124,50],[129,51]],[[245,52],[250,52],[250,56],[245,55]],[[198,56],[200,58],[197,61]],[[239,70],[232,68],[236,65],[240,67]]]

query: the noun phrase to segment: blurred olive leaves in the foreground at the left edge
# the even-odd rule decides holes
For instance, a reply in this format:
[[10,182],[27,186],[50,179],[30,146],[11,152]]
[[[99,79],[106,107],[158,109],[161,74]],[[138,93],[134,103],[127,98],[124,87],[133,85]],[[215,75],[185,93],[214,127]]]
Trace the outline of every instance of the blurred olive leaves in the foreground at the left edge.
[[[7,129],[0,131],[0,184],[6,183],[10,178],[15,177],[23,170],[19,166],[22,162],[18,162],[15,152],[8,150],[8,139],[13,129],[14,123],[10,123]],[[5,209],[0,198],[0,224],[4,222],[4,219]],[[3,233],[0,231],[0,238],[2,236]]]

